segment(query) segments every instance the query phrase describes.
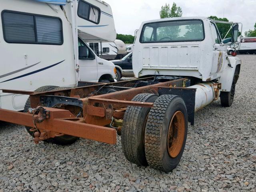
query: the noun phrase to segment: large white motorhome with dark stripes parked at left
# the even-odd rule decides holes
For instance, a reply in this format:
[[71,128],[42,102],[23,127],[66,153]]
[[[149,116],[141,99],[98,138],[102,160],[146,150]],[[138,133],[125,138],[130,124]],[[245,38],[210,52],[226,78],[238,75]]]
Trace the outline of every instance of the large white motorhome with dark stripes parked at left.
[[[0,89],[114,81],[114,64],[86,45],[116,39],[112,10],[105,2],[8,0],[1,2],[0,12]],[[0,108],[23,110],[27,98],[0,90]]]

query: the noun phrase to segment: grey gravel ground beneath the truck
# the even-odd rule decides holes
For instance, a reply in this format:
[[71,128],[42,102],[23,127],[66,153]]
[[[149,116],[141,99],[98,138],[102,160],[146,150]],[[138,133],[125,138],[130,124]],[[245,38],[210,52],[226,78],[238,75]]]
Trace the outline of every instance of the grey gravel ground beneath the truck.
[[71,146],[35,145],[23,126],[0,128],[0,192],[256,192],[256,55],[242,59],[234,103],[200,110],[189,126],[180,164],[166,174],[138,167],[116,145],[80,139]]

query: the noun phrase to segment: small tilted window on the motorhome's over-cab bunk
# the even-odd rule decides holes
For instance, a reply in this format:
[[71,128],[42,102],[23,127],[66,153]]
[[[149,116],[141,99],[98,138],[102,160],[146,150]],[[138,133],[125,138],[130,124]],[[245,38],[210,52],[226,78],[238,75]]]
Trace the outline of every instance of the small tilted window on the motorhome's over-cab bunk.
[[90,22],[99,24],[100,22],[100,9],[92,4],[80,0],[78,3],[77,14],[80,18]]

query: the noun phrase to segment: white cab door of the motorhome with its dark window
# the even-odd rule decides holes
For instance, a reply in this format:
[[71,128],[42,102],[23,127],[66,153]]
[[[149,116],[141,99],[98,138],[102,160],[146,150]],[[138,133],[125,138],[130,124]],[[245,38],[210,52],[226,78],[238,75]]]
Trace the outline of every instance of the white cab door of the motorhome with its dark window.
[[78,58],[80,81],[97,82],[97,58],[92,50],[78,38]]

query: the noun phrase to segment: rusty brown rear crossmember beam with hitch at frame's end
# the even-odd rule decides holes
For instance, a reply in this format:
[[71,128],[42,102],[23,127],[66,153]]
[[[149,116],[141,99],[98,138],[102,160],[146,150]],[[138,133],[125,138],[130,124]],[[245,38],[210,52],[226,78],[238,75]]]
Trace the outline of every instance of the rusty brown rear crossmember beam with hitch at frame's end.
[[[115,129],[72,121],[73,118],[68,120],[68,118],[72,117],[72,114],[68,110],[55,108],[45,109],[50,112],[50,118],[44,120],[40,124],[36,124],[36,126],[41,134],[44,134],[45,132],[47,133],[47,138],[54,137],[59,133],[109,144],[116,144]],[[34,127],[32,118],[33,115],[29,113],[0,109],[0,120],[2,121]]]

